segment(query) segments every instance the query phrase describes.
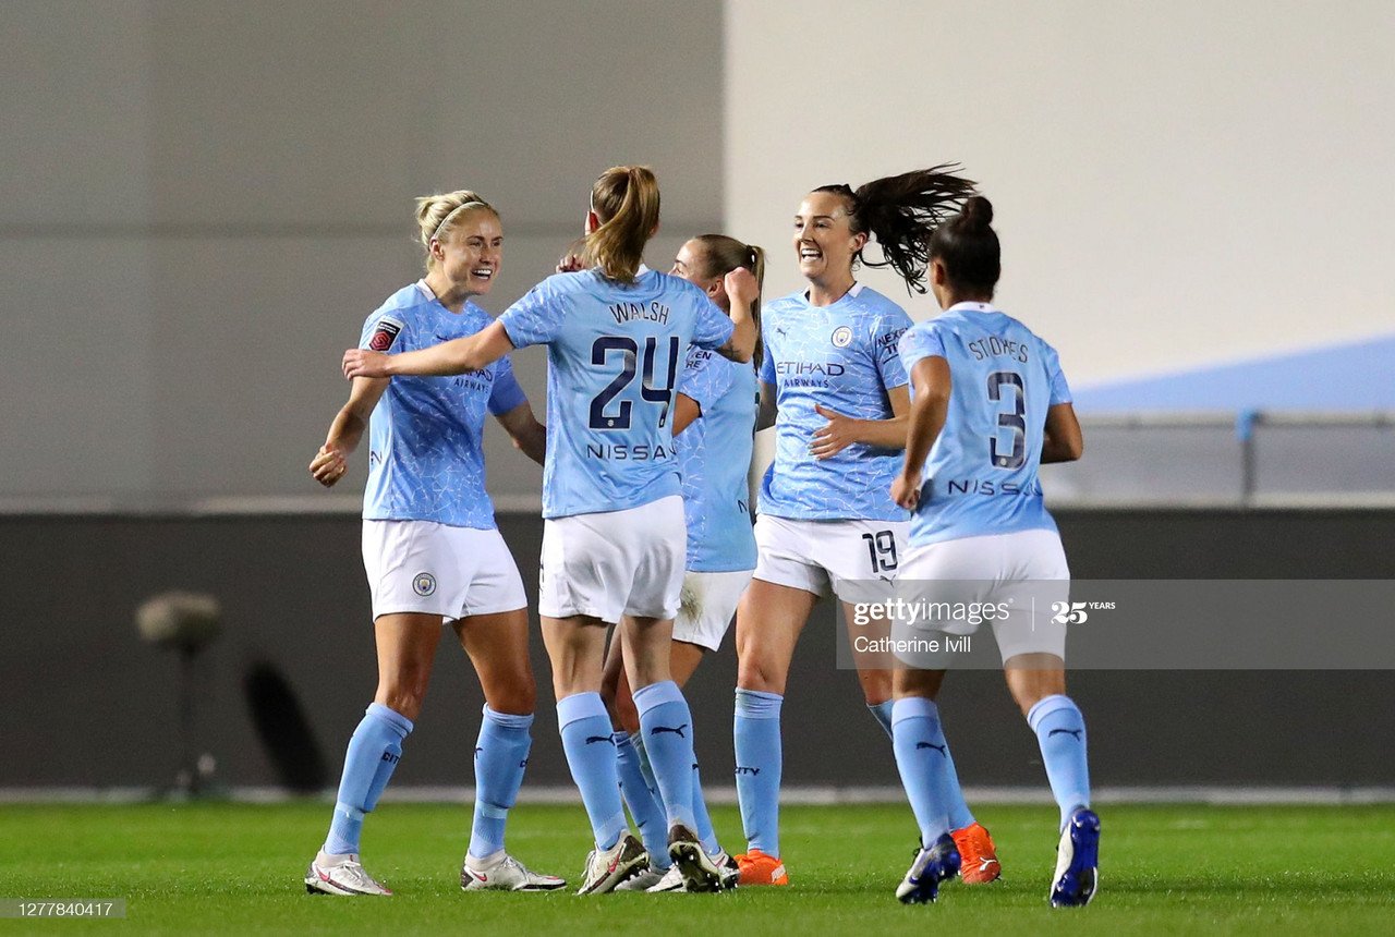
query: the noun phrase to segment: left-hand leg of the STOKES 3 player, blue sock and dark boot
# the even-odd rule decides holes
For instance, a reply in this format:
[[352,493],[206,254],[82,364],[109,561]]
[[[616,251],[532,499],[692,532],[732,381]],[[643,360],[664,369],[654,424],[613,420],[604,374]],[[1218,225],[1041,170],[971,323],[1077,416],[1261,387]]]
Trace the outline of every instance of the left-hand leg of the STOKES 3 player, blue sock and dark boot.
[[[901,785],[921,830],[921,848],[896,890],[896,897],[905,904],[935,901],[939,883],[953,878],[960,870],[958,849],[950,835],[951,785],[944,772],[949,743],[935,704],[943,679],[944,671],[915,666],[896,671],[891,747]],[[956,782],[956,793],[957,786]]]

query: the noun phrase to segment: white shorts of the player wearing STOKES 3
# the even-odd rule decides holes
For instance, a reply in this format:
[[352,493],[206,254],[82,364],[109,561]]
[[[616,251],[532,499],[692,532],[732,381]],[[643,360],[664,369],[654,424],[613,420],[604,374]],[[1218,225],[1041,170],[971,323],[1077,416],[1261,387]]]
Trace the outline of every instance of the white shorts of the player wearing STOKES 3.
[[[983,620],[993,615],[993,637],[1004,662],[1018,654],[1055,654],[1066,660],[1066,626],[1052,620],[1052,604],[1070,600],[1070,567],[1060,535],[1053,530],[912,547],[901,562],[897,597],[912,605],[921,602],[921,609],[928,609],[929,602],[940,609],[944,604],[954,608],[978,602]],[[926,618],[923,611],[918,618]],[[926,626],[949,634],[978,630],[976,623],[963,619],[942,618],[922,625]]]

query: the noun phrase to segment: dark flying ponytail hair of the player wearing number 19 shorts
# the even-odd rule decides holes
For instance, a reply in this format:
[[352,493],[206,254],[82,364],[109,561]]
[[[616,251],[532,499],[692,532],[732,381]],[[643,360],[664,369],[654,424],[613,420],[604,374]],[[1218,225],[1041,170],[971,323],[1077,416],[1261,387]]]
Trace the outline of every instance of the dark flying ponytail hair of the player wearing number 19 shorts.
[[925,293],[925,266],[930,259],[930,234],[960,204],[974,194],[975,183],[950,170],[957,163],[917,169],[901,176],[876,178],[854,190],[851,185],[820,185],[816,192],[833,192],[848,202],[854,234],[876,237],[880,261],[858,251],[854,261],[868,266],[890,266],[905,280],[907,291]]

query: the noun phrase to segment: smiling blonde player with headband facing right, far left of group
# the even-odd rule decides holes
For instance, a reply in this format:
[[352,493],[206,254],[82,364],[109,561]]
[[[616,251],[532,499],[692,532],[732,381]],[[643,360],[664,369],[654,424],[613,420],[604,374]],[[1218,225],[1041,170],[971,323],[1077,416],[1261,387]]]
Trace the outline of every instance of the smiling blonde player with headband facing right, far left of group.
[[[425,276],[368,317],[360,342],[365,349],[421,347],[490,323],[470,297],[488,293],[499,272],[498,212],[462,190],[418,198],[417,222]],[[349,742],[329,837],[306,873],[312,894],[391,894],[359,863],[359,835],[421,711],[442,622],[453,625],[487,700],[460,885],[551,891],[566,884],[529,871],[504,849],[505,817],[531,746],[536,693],[523,581],[484,491],[485,410],[523,452],[543,460],[543,427],[509,360],[501,358],[455,381],[354,378],[349,403],[310,463],[315,481],[336,484],[368,429],[363,561],[372,593],[378,692]]]

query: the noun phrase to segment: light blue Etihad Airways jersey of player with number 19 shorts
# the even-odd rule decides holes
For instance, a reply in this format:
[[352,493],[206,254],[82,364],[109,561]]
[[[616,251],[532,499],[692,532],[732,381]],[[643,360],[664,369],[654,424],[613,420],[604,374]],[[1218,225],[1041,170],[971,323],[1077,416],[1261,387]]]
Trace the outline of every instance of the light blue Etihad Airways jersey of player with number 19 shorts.
[[760,513],[791,520],[907,520],[891,501],[901,453],[854,443],[831,459],[809,455],[829,421],[816,404],[845,417],[887,420],[887,389],[905,385],[896,354],[911,326],[900,305],[861,283],[833,305],[794,293],[764,307],[760,381],[773,383],[776,460],[760,488]]

